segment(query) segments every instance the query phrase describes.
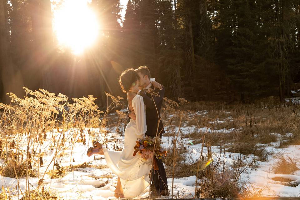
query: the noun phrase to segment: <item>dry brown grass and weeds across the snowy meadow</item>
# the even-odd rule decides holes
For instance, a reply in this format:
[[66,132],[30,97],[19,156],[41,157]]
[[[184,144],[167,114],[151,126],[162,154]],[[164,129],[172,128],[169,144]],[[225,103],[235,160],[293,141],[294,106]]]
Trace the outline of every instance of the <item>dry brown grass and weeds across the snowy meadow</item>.
[[[108,168],[107,165],[93,165],[91,162],[71,165],[74,161],[72,153],[75,143],[92,143],[100,136],[104,138],[104,145],[113,141],[116,144],[114,149],[121,149],[122,143],[118,135],[123,134],[120,126],[126,126],[127,118],[120,111],[117,111],[118,118],[108,115],[120,108],[120,97],[107,93],[109,103],[103,113],[92,96],[73,98],[73,103],[70,103],[62,94],[55,95],[45,90],[32,92],[27,88],[24,90],[27,97],[22,99],[10,93],[12,103],[0,104],[0,134],[3,136],[0,141],[0,155],[5,161],[1,173],[12,178],[26,177],[27,193],[24,199],[32,192],[28,179],[40,173],[39,167],[47,167],[44,174],[39,174],[42,178],[45,174],[51,178],[61,178],[70,171],[87,167]],[[199,179],[199,183],[195,185],[197,197],[247,196],[246,189],[238,183],[241,173],[247,167],[256,167],[256,161],[267,160],[269,152],[264,150],[266,145],[277,143],[284,147],[288,144],[299,144],[299,113],[299,105],[282,104],[271,98],[253,104],[238,105],[187,103],[184,99],[175,102],[165,98],[162,117],[168,131],[164,136],[172,141],[168,156],[163,158],[167,176],[174,178],[195,175]],[[108,139],[108,129],[114,127],[117,127],[117,137]],[[187,127],[191,128],[188,131],[180,129]],[[93,128],[101,129],[95,131]],[[68,132],[70,129],[72,131]],[[84,131],[88,131],[89,137],[85,137]],[[23,136],[26,138],[26,145],[31,149],[20,148],[20,138]],[[49,148],[54,151],[54,156],[50,163],[44,163],[45,152],[39,144],[49,139]],[[199,159],[191,160],[191,152],[185,146],[187,140],[192,142],[190,145],[202,144]],[[212,160],[213,146],[218,146],[220,153],[253,154],[253,163],[247,163],[241,157],[235,160],[231,166],[233,170],[230,171],[220,158]],[[208,150],[205,156],[204,147]],[[66,153],[66,149],[71,152]],[[70,157],[70,165],[61,166],[62,157]],[[298,170],[296,162],[283,156],[274,167],[275,173],[289,174],[295,170]],[[113,175],[105,174],[100,178],[113,178]],[[45,196],[48,197],[55,198]]]

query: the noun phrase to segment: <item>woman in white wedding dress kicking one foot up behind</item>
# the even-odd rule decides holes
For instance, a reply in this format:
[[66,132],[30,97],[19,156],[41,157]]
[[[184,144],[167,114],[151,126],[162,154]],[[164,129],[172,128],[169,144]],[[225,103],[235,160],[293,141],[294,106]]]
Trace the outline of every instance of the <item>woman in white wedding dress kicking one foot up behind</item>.
[[136,140],[143,138],[147,131],[146,105],[143,97],[138,95],[139,76],[134,69],[125,70],[119,78],[123,92],[127,93],[128,106],[136,114],[125,128],[124,147],[122,151],[108,150],[99,142],[88,149],[87,155],[102,154],[108,167],[118,176],[115,197],[134,198],[149,186],[149,173],[152,160],[143,160],[139,154],[133,156]]

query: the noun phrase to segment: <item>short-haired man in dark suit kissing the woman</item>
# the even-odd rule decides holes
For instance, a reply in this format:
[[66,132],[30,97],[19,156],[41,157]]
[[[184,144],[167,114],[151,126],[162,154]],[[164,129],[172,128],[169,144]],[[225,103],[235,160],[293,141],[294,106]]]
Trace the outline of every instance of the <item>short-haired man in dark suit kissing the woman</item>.
[[[163,97],[165,93],[165,88],[162,86],[158,92],[159,96],[154,96],[147,93],[149,88],[154,90],[152,83],[150,82],[150,71],[146,66],[141,66],[135,70],[140,77],[140,87],[143,87],[143,90],[138,91],[138,94],[143,96],[144,104],[147,106],[146,108],[146,123],[147,123],[147,132],[145,135],[150,137],[159,136],[162,138],[162,134],[165,133],[163,128],[163,123],[160,117],[160,109],[163,103]],[[126,112],[128,118],[135,119],[135,113],[130,112],[129,108],[127,108]],[[158,125],[159,120],[159,125]],[[151,194],[150,197],[160,197],[167,196],[170,194],[168,190],[168,181],[165,172],[165,168],[163,166],[162,159],[156,159],[156,163],[158,164],[158,170],[152,169],[152,184],[151,184]]]

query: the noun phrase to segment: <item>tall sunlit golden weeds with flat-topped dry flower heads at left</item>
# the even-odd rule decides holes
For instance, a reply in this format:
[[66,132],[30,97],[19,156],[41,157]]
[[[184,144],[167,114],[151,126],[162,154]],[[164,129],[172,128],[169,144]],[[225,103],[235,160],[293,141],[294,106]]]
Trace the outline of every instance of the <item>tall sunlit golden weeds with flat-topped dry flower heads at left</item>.
[[[26,93],[24,98],[7,93],[11,98],[11,103],[9,105],[0,103],[0,109],[3,110],[0,118],[0,134],[2,138],[3,136],[5,138],[4,143],[3,141],[0,143],[0,154],[1,158],[14,166],[13,170],[6,170],[7,168],[4,166],[2,170],[2,173],[5,173],[4,176],[11,176],[17,180],[26,176],[26,194],[23,197],[30,199],[32,192],[30,191],[29,177],[33,176],[32,172],[36,169],[34,163],[37,163],[37,176],[40,177],[39,167],[43,165],[42,145],[47,138],[47,131],[52,132],[53,146],[50,148],[54,147],[55,153],[40,180],[44,178],[51,163],[54,163],[52,171],[55,166],[58,168],[58,155],[62,149],[65,149],[67,140],[73,140],[71,144],[73,150],[73,144],[76,142],[78,131],[81,128],[99,126],[102,111],[98,110],[98,106],[94,103],[96,98],[91,95],[73,98],[73,103],[69,103],[68,97],[60,93],[56,95],[44,89],[33,92],[26,87],[23,88]],[[70,128],[76,128],[77,131],[68,131]],[[59,136],[54,136],[55,129],[58,130]],[[26,138],[26,149],[20,147],[24,137]],[[13,138],[15,139],[13,140]],[[26,155],[25,159],[23,155]]]

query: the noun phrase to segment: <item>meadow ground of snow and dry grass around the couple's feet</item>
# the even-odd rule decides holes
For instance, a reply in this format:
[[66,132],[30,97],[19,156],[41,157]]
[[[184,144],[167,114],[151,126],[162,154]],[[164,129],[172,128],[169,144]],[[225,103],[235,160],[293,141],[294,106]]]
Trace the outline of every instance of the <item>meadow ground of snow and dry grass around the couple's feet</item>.
[[[196,179],[197,197],[299,197],[300,105],[287,103],[269,98],[251,105],[200,102],[163,109],[166,133],[162,142],[168,149],[163,161],[171,194],[162,198],[172,193],[174,198],[195,197]],[[68,128],[65,132],[53,128],[46,132],[43,143],[33,143],[29,147],[30,190],[41,191],[45,199],[115,199],[118,177],[104,156],[86,155],[97,133],[103,133],[98,139],[108,148],[121,150],[128,121],[120,122],[114,112],[107,119],[103,128]],[[2,134],[1,139],[6,144],[2,153],[18,149],[18,155],[26,156],[26,134],[5,138]],[[60,140],[62,145],[55,145]],[[0,197],[20,199],[27,188],[26,164],[17,164],[8,155],[0,160]],[[22,176],[16,177],[17,168],[23,168]],[[137,198],[148,195],[149,188]]]

